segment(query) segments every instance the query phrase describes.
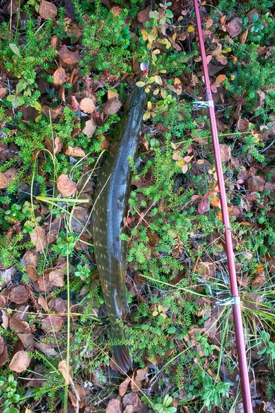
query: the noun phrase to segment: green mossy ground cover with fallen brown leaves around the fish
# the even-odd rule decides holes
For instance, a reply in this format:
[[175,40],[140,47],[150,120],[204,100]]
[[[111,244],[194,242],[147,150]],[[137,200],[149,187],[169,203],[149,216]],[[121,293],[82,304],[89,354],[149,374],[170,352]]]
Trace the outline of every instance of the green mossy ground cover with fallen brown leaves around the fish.
[[[274,1],[200,10],[254,412],[273,412]],[[0,19],[2,411],[242,412],[192,2],[8,1]],[[124,219],[123,377],[91,220],[136,84],[148,103]]]

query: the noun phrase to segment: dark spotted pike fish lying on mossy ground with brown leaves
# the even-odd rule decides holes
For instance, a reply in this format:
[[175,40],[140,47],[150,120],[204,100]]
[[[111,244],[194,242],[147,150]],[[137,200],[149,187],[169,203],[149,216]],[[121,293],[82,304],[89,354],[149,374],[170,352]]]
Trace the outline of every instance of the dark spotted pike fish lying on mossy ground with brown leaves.
[[[94,251],[114,341],[125,339],[117,319],[129,311],[124,284],[126,242],[120,240],[120,234],[124,232],[123,218],[131,188],[129,157],[135,158],[137,153],[145,102],[144,89],[133,89],[126,101],[117,140],[104,161],[95,194]],[[128,347],[113,346],[113,360],[121,372],[130,370]]]

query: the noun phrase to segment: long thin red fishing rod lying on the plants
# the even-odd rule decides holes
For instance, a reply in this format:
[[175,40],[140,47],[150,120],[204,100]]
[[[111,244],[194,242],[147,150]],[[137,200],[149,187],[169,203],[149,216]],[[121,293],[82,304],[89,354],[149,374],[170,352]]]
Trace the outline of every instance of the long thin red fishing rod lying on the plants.
[[230,290],[231,299],[230,304],[233,306],[234,317],[234,330],[236,335],[236,349],[239,361],[239,372],[241,379],[241,393],[243,396],[243,411],[244,413],[253,413],[252,399],[250,394],[250,381],[248,377],[248,361],[245,351],[245,337],[243,333],[243,321],[241,318],[241,299],[238,291],[238,284],[236,280],[236,271],[234,264],[234,252],[232,246],[232,237],[230,231],[230,222],[228,215],[228,202],[225,193],[225,184],[223,179],[223,169],[221,165],[221,153],[219,150],[219,138],[217,132],[216,118],[214,114],[214,103],[212,100],[212,93],[210,89],[210,80],[208,74],[208,67],[206,62],[206,50],[204,49],[203,35],[201,30],[201,18],[199,16],[199,6],[197,0],[193,0],[195,6],[195,14],[197,20],[197,31],[199,35],[199,46],[201,49],[201,61],[203,65],[204,83],[206,84],[206,102],[202,107],[208,107],[211,135],[214,147],[214,158],[216,162],[217,178],[219,184],[220,200],[221,200],[221,213],[223,217],[223,225],[225,231],[225,245],[228,258],[228,271],[230,275]]

